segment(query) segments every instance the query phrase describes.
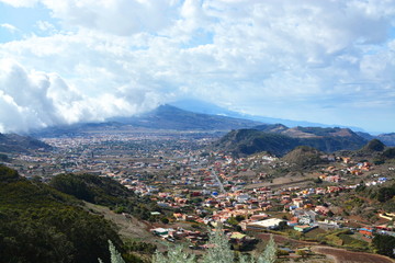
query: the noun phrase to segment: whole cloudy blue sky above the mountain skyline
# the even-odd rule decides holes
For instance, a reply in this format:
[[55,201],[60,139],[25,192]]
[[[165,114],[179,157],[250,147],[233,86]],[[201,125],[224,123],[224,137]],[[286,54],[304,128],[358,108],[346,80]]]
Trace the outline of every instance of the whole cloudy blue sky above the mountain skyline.
[[0,133],[184,99],[395,132],[395,0],[0,0]]

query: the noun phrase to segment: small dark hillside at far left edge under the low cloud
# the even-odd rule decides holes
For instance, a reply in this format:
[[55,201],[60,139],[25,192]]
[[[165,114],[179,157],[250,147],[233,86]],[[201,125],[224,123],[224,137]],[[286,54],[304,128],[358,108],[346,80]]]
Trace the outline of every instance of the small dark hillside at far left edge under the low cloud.
[[49,150],[50,148],[47,144],[32,137],[0,134],[0,152],[29,152],[30,150]]

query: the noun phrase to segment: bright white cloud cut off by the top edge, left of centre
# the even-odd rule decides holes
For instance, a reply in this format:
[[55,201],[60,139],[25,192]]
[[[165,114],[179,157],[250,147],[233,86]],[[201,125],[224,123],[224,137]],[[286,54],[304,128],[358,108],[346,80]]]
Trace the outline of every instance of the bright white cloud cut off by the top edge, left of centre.
[[177,2],[163,0],[42,0],[67,25],[117,35],[156,32],[172,22]]

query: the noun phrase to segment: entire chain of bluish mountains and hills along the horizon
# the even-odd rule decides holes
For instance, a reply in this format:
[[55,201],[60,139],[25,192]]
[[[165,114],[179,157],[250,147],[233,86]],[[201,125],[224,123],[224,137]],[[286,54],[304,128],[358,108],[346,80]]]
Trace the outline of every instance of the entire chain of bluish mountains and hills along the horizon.
[[[353,132],[350,128],[316,127],[315,125],[318,124],[313,124],[314,126],[311,127],[296,126],[290,128],[284,124],[263,124],[262,122],[241,117],[224,116],[230,115],[229,112],[223,112],[221,115],[213,114],[214,112],[218,113],[221,107],[212,104],[199,106],[199,104],[191,102],[190,107],[196,108],[196,111],[207,110],[206,113],[196,113],[173,105],[161,105],[138,116],[113,117],[103,123],[80,123],[49,127],[35,130],[31,135],[34,137],[75,136],[89,132],[135,130],[136,128],[222,132],[228,134],[217,142],[216,148],[218,149],[223,148],[245,155],[257,151],[271,151],[280,156],[301,145],[311,146],[326,152],[345,149],[356,150],[374,138],[382,140],[386,146],[395,146],[395,134],[372,136],[362,132]],[[233,116],[237,116],[237,114],[235,113]],[[246,115],[239,114],[238,116]],[[48,146],[32,138],[23,139],[16,135],[0,136],[0,152],[9,152],[10,150],[26,151],[32,147],[47,148]]]

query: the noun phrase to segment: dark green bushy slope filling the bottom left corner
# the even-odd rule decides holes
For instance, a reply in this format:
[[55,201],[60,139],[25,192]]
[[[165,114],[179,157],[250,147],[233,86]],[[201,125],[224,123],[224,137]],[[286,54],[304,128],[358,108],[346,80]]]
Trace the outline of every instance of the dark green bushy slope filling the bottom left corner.
[[1,262],[109,262],[114,226],[89,214],[80,201],[0,165]]

